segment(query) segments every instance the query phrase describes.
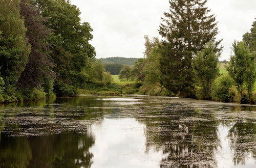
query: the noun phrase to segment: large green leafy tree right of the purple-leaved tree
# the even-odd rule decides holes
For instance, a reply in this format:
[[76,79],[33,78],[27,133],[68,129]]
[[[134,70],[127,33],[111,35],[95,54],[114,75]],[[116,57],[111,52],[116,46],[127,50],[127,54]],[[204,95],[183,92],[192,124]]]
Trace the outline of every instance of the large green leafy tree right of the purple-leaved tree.
[[76,89],[86,82],[81,72],[95,56],[94,47],[89,43],[93,38],[88,22],[81,23],[79,9],[63,0],[38,0],[41,15],[49,19],[45,25],[53,30],[49,42],[51,56],[56,63],[54,91],[57,96],[74,96]]

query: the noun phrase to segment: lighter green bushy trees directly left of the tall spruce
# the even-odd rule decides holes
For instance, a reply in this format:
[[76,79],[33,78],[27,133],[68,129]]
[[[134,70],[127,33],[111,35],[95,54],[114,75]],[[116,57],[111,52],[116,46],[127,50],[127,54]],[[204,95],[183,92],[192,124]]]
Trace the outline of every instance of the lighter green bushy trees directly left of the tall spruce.
[[160,83],[160,41],[158,38],[145,39],[144,58],[139,59],[133,67],[132,75],[135,83],[125,87],[125,93],[139,93],[154,96],[170,96],[173,95],[166,90]]

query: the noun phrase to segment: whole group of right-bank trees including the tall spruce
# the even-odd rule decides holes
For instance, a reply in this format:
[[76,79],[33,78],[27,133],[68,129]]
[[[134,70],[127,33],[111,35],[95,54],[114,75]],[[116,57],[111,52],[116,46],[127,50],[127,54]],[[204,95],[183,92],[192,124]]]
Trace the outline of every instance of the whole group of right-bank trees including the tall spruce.
[[233,43],[228,74],[220,75],[222,40],[216,39],[216,17],[206,2],[169,1],[159,29],[162,40],[145,36],[145,57],[130,71],[136,83],[125,92],[255,103],[256,21],[242,42]]

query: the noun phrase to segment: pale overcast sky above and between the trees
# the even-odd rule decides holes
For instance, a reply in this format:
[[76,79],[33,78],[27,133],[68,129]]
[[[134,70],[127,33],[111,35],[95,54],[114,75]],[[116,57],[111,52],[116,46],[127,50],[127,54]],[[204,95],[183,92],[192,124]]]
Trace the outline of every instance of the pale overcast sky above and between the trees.
[[[168,11],[168,0],[71,0],[81,11],[82,21],[93,28],[96,58],[142,58],[144,35],[157,37],[160,17]],[[256,17],[255,0],[208,0],[215,13],[219,39],[224,46],[221,60],[228,60],[233,41],[250,32]]]

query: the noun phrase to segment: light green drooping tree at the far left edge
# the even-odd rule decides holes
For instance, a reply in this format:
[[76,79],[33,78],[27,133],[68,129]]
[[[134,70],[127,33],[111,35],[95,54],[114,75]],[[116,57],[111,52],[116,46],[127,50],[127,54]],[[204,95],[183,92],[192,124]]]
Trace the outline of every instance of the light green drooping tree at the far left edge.
[[19,0],[3,0],[0,5],[0,75],[5,82],[4,99],[10,101],[16,101],[16,83],[28,63],[31,48],[19,4]]

